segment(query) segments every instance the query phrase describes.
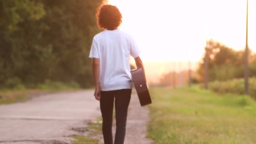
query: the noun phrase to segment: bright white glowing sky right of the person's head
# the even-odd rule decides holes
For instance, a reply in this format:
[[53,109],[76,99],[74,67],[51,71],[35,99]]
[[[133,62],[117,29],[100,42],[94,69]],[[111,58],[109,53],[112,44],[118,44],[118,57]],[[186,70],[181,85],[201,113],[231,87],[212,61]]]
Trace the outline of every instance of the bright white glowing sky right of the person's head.
[[[110,0],[123,14],[145,61],[203,56],[206,37],[236,50],[245,47],[246,0]],[[256,0],[249,0],[249,47],[256,51]]]

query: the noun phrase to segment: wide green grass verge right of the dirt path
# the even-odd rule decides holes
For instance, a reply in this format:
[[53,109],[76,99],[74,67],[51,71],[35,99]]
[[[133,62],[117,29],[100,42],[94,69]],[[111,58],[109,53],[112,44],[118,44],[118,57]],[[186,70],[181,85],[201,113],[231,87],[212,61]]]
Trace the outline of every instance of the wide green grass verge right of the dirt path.
[[156,144],[255,144],[256,102],[198,87],[152,88],[148,137]]

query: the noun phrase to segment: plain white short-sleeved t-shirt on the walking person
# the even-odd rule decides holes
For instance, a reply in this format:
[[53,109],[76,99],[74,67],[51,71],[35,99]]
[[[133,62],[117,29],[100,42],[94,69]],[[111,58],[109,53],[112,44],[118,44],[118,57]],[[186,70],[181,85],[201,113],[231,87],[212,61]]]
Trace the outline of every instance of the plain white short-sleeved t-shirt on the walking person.
[[130,55],[140,54],[133,37],[116,30],[104,30],[93,37],[90,58],[100,60],[99,83],[101,91],[131,88]]

